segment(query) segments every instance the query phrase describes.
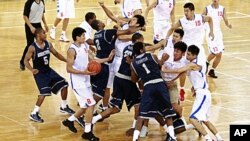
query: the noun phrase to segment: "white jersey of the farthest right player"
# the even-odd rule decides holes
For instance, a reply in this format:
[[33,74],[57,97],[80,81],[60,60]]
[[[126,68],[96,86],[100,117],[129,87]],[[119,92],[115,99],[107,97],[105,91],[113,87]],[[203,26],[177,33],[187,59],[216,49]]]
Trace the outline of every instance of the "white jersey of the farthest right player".
[[[206,7],[206,11],[207,11],[207,16],[210,16],[213,19],[214,33],[216,33],[217,31],[221,31],[220,23],[224,15],[224,7],[219,5],[218,8],[214,8],[212,5],[209,5]],[[209,30],[209,27],[208,27],[208,30]]]

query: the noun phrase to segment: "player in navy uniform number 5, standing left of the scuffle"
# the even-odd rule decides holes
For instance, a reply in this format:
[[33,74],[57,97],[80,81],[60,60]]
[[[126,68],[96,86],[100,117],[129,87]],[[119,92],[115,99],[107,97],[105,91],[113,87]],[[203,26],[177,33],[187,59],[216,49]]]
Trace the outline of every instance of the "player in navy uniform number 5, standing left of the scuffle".
[[[31,112],[29,118],[36,122],[43,122],[44,120],[39,115],[39,109],[45,96],[50,96],[51,92],[57,94],[59,91],[61,91],[62,96],[60,112],[74,114],[75,112],[69,108],[66,100],[68,83],[49,65],[50,53],[64,62],[67,62],[66,58],[58,53],[52,44],[46,40],[46,33],[42,28],[37,28],[35,30],[35,39],[36,41],[29,47],[24,59],[24,64],[34,75],[40,92],[35,108]],[[31,67],[29,63],[30,59],[33,60],[33,67]]]

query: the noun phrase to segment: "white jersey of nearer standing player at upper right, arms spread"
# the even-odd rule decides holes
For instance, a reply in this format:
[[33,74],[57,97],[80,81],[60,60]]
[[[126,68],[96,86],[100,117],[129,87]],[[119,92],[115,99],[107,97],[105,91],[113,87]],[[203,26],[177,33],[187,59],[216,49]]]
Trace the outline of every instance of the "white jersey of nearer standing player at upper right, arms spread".
[[184,16],[179,22],[185,33],[182,41],[188,46],[196,45],[200,48],[203,44],[204,38],[204,20],[202,15],[195,14],[194,20],[188,20]]

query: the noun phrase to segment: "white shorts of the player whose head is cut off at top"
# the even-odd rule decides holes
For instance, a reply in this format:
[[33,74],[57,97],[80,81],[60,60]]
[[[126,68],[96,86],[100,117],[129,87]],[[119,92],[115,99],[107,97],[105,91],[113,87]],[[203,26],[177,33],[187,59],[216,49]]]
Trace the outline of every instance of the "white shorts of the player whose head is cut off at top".
[[169,29],[169,21],[154,21],[154,40],[160,41],[165,39]]

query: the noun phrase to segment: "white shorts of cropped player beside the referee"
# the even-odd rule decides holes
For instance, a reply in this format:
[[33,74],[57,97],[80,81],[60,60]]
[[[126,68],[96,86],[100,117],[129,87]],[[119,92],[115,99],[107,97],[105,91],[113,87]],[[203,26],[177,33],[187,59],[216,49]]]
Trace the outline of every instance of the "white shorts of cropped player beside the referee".
[[75,18],[74,0],[57,0],[57,18]]

